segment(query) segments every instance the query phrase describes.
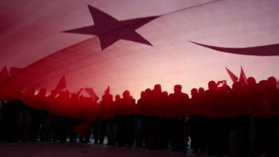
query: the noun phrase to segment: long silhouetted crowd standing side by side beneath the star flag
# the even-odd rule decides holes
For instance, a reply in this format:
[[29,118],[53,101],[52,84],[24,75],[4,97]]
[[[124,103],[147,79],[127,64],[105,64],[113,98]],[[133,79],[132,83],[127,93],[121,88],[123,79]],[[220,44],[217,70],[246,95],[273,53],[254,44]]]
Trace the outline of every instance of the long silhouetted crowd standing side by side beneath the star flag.
[[[91,142],[118,147],[172,149],[194,154],[278,156],[279,89],[276,78],[256,83],[209,82],[209,89],[174,93],[160,84],[142,91],[137,103],[129,91],[113,98],[80,92],[34,89],[22,93],[14,87],[13,99],[0,105],[2,142]],[[68,140],[67,140],[68,139]]]

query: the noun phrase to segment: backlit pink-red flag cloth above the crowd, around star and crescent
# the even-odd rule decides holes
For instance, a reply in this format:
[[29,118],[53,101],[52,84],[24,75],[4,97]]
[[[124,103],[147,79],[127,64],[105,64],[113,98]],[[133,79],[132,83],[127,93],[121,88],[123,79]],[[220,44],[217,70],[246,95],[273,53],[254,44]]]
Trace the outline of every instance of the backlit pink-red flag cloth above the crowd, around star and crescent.
[[[115,27],[101,18],[100,29],[112,27],[105,31],[105,40],[111,41],[102,51],[96,32],[62,33],[97,24],[98,16],[92,20],[88,5],[122,22],[157,18],[139,27]],[[153,84],[169,92],[174,84],[181,84],[189,92],[193,87],[207,87],[209,80],[230,80],[225,67],[239,73],[242,65],[257,80],[278,77],[278,56],[216,52],[188,42],[218,47],[275,45],[279,43],[278,13],[276,0],[2,0],[0,68],[24,68],[6,84],[50,90],[65,75],[70,91],[93,87],[100,96],[110,85],[112,94],[128,89],[135,98]],[[119,29],[137,37],[125,36]],[[141,42],[137,42],[139,36]]]

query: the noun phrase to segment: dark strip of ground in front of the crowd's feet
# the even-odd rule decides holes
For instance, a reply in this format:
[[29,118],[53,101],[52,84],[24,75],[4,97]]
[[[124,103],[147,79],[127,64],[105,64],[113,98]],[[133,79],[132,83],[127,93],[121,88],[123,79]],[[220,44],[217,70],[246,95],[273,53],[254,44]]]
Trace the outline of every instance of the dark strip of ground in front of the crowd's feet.
[[119,147],[107,147],[105,145],[94,144],[68,144],[68,143],[1,143],[1,157],[164,157],[164,156],[185,156],[185,157],[208,157],[204,155],[183,154],[179,152],[148,151],[146,149],[127,149]]

